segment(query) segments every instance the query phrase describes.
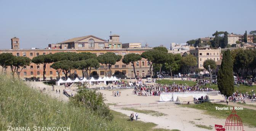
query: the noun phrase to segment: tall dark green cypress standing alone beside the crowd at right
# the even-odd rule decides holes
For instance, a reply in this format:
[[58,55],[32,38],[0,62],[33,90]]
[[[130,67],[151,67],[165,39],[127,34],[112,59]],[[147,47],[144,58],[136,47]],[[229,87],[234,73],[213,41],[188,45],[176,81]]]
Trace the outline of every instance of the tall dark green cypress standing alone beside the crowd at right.
[[234,93],[233,63],[230,50],[225,51],[223,54],[217,82],[219,91],[223,95],[228,97]]

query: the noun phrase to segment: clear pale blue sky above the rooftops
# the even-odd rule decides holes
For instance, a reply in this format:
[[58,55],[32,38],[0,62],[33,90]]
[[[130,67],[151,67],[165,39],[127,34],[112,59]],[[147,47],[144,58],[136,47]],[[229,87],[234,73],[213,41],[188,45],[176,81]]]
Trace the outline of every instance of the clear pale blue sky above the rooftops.
[[46,48],[50,43],[94,35],[151,47],[186,43],[216,30],[256,30],[256,0],[0,0],[0,49]]

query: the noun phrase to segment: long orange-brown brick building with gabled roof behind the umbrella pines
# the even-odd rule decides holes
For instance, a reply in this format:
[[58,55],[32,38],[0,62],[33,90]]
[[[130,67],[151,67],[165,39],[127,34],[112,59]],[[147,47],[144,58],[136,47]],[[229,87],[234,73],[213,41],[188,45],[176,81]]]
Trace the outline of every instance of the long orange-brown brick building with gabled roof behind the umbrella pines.
[[[11,39],[12,49],[0,49],[0,53],[10,52],[16,56],[26,56],[32,59],[38,55],[54,54],[56,52],[91,52],[97,56],[106,52],[114,52],[119,55],[126,55],[129,53],[142,54],[142,52],[152,50],[152,48],[122,48],[122,43],[119,42],[118,35],[110,35],[110,39],[104,40],[96,36],[83,36],[78,38],[72,38],[67,41],[63,41],[58,44],[49,44],[47,49],[19,49],[19,38]],[[50,68],[51,64],[46,65],[46,79],[56,79],[58,74],[55,69]],[[146,77],[150,75],[149,64],[147,60],[143,59],[136,64],[136,75]],[[2,69],[2,67],[0,67]],[[91,75],[94,77],[104,76],[104,65],[101,65],[98,69],[93,69]],[[7,73],[11,73],[10,67],[7,69]],[[77,73],[78,76],[82,76],[82,71],[78,69],[71,70],[70,73]],[[133,73],[133,67],[131,65],[125,65],[122,61],[117,62],[111,67],[111,73],[108,71],[107,75],[115,74],[119,77],[135,77]],[[21,78],[36,77],[43,79],[43,65],[36,65],[31,63],[26,66],[20,72]],[[61,73],[60,76],[65,76]]]

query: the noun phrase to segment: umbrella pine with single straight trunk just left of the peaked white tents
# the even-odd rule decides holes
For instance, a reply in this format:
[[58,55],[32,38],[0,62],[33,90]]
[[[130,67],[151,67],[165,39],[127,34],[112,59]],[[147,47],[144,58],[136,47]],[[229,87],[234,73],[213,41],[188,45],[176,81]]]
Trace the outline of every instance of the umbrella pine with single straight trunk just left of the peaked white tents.
[[43,81],[45,81],[45,68],[46,64],[52,63],[53,60],[53,54],[47,54],[47,55],[38,55],[34,58],[32,58],[32,62],[35,64],[43,64]]

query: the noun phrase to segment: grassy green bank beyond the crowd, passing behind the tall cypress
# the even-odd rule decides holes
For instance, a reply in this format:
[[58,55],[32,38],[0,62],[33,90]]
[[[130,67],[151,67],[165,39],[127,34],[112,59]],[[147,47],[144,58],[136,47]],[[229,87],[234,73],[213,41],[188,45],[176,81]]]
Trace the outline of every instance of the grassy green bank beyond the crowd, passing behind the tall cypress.
[[[196,84],[196,82],[193,81],[187,81],[187,80],[157,80],[156,81],[158,84],[173,84],[175,82],[175,84],[178,85],[182,85],[182,84],[187,84],[189,86],[193,86]],[[203,87],[203,86],[201,86]],[[217,84],[206,84],[205,86],[206,88],[213,88],[214,90],[219,90],[218,89],[218,85]],[[235,85],[235,91],[241,92],[241,93],[245,93],[248,92],[249,94],[252,94],[251,90],[254,90],[254,92],[256,91],[256,85],[253,85],[252,87],[250,86],[245,86],[245,85],[240,85],[240,86],[236,86]]]

